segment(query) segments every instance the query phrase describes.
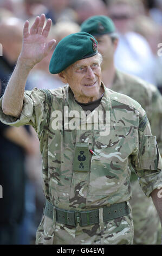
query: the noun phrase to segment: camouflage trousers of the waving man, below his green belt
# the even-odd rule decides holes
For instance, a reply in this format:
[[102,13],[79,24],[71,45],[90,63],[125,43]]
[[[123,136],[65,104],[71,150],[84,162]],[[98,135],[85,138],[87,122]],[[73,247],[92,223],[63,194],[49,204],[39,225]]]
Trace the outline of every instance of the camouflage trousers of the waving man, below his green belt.
[[38,245],[129,245],[132,242],[132,213],[107,222],[100,217],[100,223],[86,227],[60,224],[43,215],[36,232]]

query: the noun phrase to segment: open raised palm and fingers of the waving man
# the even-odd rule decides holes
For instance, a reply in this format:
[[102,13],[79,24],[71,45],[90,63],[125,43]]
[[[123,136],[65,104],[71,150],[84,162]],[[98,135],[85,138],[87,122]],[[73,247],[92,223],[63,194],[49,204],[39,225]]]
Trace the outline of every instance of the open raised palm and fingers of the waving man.
[[23,30],[23,44],[20,54],[21,59],[29,66],[34,66],[47,56],[51,48],[55,44],[55,40],[47,42],[47,36],[51,27],[51,20],[48,19],[46,26],[44,22],[46,17],[44,14],[41,17],[36,17],[33,26],[29,32],[29,22],[26,21]]

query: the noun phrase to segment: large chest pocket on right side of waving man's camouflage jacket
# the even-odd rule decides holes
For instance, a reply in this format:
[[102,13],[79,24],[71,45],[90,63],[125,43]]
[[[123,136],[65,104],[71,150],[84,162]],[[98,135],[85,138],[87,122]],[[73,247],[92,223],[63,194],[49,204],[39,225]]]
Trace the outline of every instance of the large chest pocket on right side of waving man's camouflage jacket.
[[128,161],[137,147],[134,127],[111,127],[108,136],[95,132],[94,152],[90,166],[89,196],[108,196],[123,186],[129,171]]

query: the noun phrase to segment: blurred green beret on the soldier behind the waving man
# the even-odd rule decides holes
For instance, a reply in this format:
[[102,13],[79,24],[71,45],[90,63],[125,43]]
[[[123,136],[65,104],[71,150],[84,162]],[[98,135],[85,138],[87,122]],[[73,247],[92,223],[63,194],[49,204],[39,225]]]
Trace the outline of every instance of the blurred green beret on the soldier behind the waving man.
[[112,34],[115,32],[115,25],[109,17],[96,15],[85,20],[81,25],[81,32],[92,35]]

